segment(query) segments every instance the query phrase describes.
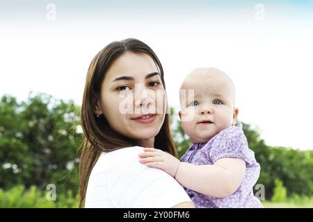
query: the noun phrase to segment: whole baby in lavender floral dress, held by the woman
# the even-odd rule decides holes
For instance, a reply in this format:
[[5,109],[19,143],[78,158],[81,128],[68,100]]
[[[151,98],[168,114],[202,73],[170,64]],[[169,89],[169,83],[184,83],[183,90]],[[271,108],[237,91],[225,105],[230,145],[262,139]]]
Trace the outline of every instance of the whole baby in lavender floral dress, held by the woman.
[[156,148],[145,148],[139,161],[169,173],[195,207],[263,207],[252,191],[260,167],[241,123],[236,125],[239,110],[230,77],[214,68],[195,69],[181,92],[188,95],[180,96],[179,118],[193,145],[181,161]]

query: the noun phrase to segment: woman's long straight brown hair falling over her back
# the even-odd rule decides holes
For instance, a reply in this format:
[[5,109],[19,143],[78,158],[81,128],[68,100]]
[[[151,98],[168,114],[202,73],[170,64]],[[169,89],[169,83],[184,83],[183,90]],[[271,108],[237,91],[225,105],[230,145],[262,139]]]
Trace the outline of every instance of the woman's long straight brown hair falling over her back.
[[[112,130],[103,114],[100,117],[97,117],[95,114],[95,106],[100,99],[101,85],[106,71],[108,71],[113,62],[119,58],[122,53],[125,53],[125,51],[146,53],[150,56],[157,65],[164,89],[166,88],[163,78],[163,68],[159,58],[157,58],[157,55],[147,44],[139,40],[127,39],[120,42],[112,42],[99,51],[95,58],[93,58],[86,76],[83,103],[81,105],[81,126],[84,136],[79,161],[79,207],[83,207],[88,179],[99,155],[102,152],[139,145],[134,139],[120,135]],[[166,112],[165,115],[166,117],[161,126],[161,130],[154,138],[154,147],[177,156],[177,151],[170,135],[168,112]]]

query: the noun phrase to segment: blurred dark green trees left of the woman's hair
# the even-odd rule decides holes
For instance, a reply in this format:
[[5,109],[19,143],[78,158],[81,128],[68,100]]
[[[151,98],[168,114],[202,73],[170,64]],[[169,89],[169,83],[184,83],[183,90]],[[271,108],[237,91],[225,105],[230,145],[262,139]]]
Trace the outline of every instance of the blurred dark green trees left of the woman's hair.
[[73,101],[29,94],[18,103],[12,96],[0,101],[0,187],[22,184],[60,191],[78,187],[77,132],[79,108]]

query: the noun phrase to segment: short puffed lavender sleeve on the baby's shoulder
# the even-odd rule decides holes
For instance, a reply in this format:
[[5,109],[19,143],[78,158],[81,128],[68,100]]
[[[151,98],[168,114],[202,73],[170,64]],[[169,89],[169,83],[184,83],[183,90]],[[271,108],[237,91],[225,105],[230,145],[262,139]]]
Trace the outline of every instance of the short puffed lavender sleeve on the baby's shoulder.
[[209,157],[213,163],[221,158],[232,157],[242,159],[246,164],[254,164],[254,153],[248,148],[241,123],[239,126],[231,126],[222,130],[212,139]]

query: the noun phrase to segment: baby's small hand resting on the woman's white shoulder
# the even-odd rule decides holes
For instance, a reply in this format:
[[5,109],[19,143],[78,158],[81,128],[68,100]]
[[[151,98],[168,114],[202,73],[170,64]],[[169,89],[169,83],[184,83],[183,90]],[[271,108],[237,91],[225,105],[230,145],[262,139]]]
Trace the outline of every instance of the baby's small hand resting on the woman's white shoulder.
[[145,151],[144,153],[138,154],[141,157],[139,162],[146,164],[148,167],[162,169],[175,178],[180,164],[176,157],[157,148],[143,148],[143,150]]

